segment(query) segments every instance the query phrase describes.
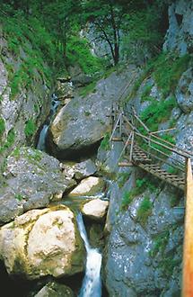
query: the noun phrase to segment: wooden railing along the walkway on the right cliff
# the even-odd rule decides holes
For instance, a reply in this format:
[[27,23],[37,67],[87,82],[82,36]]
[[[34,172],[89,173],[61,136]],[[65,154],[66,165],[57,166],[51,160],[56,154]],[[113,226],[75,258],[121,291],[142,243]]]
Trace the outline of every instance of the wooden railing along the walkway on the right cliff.
[[134,144],[137,144],[148,157],[151,157],[160,166],[165,167],[165,170],[168,170],[169,173],[175,173],[185,178],[186,164],[188,159],[193,157],[193,154],[158,136],[158,134],[164,135],[164,132],[171,132],[174,128],[151,131],[136,114],[134,108],[126,116],[123,108],[118,105],[113,106],[112,121],[114,127],[110,140],[117,137],[124,142],[119,160],[127,155],[129,156],[129,162],[134,161],[133,149]]

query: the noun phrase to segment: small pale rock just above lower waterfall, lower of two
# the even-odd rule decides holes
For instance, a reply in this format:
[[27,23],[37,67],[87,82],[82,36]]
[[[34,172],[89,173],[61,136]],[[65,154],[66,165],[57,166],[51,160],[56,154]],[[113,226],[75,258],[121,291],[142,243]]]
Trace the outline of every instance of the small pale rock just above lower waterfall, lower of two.
[[101,199],[94,199],[90,202],[83,204],[83,215],[92,220],[101,220],[107,213],[109,206],[108,201],[102,201]]

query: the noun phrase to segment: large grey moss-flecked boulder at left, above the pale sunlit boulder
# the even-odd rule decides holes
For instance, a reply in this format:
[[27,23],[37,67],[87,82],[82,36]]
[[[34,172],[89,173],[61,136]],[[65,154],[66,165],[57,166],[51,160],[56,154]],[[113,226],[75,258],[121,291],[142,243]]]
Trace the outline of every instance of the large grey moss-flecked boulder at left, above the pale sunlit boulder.
[[75,184],[66,180],[55,157],[33,148],[16,148],[7,158],[4,177],[6,183],[0,189],[0,223],[60,200]]

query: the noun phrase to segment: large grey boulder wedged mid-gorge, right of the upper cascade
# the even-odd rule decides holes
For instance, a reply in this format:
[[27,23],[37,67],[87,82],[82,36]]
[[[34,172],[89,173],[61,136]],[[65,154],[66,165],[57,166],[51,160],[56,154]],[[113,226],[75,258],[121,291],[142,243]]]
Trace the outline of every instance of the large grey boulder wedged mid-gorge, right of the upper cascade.
[[48,145],[60,158],[88,155],[92,148],[110,130],[110,112],[113,102],[123,94],[135,75],[135,67],[101,79],[91,94],[75,95],[58,113],[48,130]]

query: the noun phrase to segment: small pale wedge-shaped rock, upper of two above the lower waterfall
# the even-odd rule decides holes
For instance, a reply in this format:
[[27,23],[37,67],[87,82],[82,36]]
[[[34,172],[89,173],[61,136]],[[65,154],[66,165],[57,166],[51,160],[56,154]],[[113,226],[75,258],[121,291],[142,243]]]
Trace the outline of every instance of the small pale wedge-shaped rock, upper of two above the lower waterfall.
[[93,196],[102,193],[105,183],[101,177],[89,176],[84,178],[69,196]]

